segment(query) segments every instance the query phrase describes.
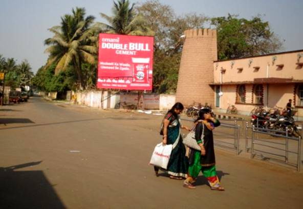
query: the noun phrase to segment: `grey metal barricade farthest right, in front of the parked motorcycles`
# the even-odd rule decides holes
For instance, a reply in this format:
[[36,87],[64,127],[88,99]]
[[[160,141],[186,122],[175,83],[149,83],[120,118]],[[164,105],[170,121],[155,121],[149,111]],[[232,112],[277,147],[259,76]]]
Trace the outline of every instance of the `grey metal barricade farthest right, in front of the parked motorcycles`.
[[[297,168],[297,171],[300,171],[301,136],[299,137],[289,136],[288,130],[279,131],[272,129],[257,128],[257,127],[248,127],[248,123],[246,123],[245,148],[247,152],[249,150],[248,148],[249,130],[251,130],[251,150],[250,150],[251,159],[253,159],[254,156],[257,155],[257,156],[261,156],[263,159],[276,160],[278,162],[282,162],[284,164],[294,166],[295,168]],[[256,137],[257,134],[258,137]],[[290,150],[290,143],[292,143],[292,150]],[[296,161],[296,163],[290,161],[289,158],[290,154],[296,155],[296,159],[292,158],[292,160]],[[279,159],[276,159],[275,157],[278,157]]]

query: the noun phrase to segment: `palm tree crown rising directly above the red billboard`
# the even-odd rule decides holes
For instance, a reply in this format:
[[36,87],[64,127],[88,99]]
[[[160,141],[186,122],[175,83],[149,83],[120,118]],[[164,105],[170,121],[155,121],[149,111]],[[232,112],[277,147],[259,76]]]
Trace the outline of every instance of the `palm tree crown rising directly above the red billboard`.
[[117,3],[114,1],[112,11],[113,16],[100,13],[101,17],[109,22],[109,24],[100,23],[106,27],[107,33],[154,35],[154,32],[146,26],[144,17],[135,13],[134,4],[130,6],[128,0],[119,0]]

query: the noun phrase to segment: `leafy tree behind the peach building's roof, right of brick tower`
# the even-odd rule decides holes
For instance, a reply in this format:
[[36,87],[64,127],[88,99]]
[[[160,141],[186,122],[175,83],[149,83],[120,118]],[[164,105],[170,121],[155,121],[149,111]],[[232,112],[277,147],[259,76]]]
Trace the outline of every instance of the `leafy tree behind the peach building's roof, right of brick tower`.
[[282,48],[281,41],[260,16],[251,20],[237,15],[211,18],[218,31],[219,60],[274,53]]

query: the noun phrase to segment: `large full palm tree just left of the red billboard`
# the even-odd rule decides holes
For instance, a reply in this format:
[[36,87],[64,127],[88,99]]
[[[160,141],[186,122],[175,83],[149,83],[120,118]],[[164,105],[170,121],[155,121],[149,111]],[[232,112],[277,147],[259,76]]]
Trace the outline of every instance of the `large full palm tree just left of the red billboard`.
[[50,53],[46,67],[55,63],[55,73],[58,74],[72,65],[82,88],[85,89],[81,65],[83,62],[96,64],[94,34],[98,28],[91,26],[95,17],[84,16],[85,9],[76,7],[71,15],[61,17],[61,25],[49,29],[54,36],[46,39],[45,45],[49,45],[46,52]]

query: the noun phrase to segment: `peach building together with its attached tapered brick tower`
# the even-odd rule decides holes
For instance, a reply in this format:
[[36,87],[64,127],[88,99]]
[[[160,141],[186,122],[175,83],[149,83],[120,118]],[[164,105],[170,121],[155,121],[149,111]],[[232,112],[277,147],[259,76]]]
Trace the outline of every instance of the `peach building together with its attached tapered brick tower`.
[[176,101],[208,103],[240,114],[257,106],[285,108],[289,99],[303,120],[303,50],[217,61],[217,31],[184,32]]

